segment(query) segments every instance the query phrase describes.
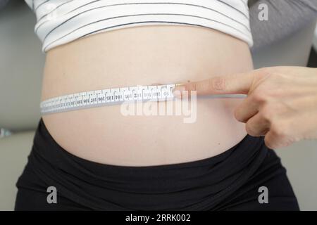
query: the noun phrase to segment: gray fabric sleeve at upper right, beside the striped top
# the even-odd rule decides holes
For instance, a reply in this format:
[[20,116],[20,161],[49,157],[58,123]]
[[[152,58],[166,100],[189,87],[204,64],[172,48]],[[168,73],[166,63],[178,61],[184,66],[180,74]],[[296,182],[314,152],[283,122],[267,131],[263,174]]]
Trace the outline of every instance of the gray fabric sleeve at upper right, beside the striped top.
[[[268,21],[259,20],[259,4],[268,6]],[[249,0],[250,26],[257,51],[288,37],[317,18],[317,0]]]

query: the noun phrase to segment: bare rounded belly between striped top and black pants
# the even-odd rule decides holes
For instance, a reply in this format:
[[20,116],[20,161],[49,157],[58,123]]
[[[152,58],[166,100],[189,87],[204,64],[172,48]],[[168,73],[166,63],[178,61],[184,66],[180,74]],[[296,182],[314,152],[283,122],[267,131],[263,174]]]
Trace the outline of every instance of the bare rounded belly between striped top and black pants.
[[[173,84],[251,69],[247,44],[227,34],[191,26],[130,27],[51,49],[42,101],[81,91]],[[239,143],[247,134],[233,115],[241,101],[197,98],[190,115],[174,110],[169,115],[126,115],[121,105],[111,105],[42,118],[54,140],[80,158],[108,165],[167,165],[209,158]],[[151,104],[163,108],[174,103]]]

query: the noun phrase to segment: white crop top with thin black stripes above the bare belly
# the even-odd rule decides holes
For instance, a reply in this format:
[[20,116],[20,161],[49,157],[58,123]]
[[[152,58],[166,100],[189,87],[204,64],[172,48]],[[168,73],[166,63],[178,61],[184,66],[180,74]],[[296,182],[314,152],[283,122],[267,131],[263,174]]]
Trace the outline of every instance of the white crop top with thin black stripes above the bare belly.
[[44,52],[98,32],[163,24],[209,27],[253,45],[248,0],[25,1],[37,16]]

